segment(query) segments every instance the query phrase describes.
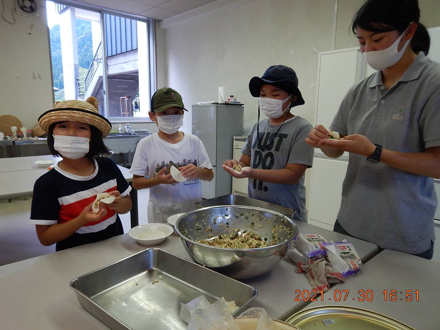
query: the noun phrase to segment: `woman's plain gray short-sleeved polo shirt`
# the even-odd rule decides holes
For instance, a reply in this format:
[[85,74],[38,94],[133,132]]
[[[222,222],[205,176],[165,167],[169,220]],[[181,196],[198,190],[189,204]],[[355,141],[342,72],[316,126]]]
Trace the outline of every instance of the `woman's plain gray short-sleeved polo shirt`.
[[[420,52],[391,89],[378,71],[352,86],[330,129],[407,153],[440,146],[440,66]],[[434,180],[350,154],[338,221],[385,249],[422,253],[434,241]]]

